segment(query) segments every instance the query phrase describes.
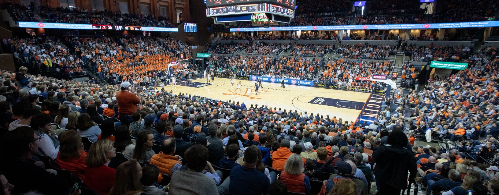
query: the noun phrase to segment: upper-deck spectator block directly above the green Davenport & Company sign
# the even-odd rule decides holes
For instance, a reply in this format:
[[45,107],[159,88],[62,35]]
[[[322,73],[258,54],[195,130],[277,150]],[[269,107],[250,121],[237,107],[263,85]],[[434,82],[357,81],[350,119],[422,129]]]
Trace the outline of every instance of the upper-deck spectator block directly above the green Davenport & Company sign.
[[471,52],[468,46],[416,46],[408,45],[404,48],[406,55],[411,57],[411,61],[446,61],[458,62]]

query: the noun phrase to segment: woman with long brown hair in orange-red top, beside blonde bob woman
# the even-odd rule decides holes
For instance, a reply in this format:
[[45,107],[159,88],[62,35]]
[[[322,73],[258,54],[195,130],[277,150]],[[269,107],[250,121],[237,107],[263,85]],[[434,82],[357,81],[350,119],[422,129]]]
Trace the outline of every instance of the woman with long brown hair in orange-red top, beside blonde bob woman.
[[59,153],[55,159],[57,165],[61,169],[73,172],[81,181],[85,182],[87,152],[83,150],[80,133],[74,129],[67,130],[62,134],[60,141]]

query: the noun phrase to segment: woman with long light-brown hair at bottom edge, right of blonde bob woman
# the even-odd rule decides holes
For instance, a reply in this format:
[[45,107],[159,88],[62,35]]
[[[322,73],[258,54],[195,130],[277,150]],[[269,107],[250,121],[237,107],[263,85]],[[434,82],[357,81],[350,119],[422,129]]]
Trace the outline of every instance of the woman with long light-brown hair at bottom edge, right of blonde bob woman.
[[132,159],[122,163],[116,169],[115,185],[108,195],[140,195],[142,193],[142,167]]

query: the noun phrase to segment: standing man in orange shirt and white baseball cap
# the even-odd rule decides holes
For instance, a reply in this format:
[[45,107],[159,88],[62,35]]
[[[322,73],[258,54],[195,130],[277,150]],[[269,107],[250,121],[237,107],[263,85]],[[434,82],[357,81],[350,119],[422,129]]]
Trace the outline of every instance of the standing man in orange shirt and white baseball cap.
[[[118,101],[118,113],[121,120],[121,125],[129,126],[133,122],[132,114],[137,111],[137,104],[140,104],[140,93],[142,90],[137,89],[137,95],[130,88],[130,83],[122,82],[120,84],[121,91],[116,93]],[[153,118],[154,122],[154,118]]]

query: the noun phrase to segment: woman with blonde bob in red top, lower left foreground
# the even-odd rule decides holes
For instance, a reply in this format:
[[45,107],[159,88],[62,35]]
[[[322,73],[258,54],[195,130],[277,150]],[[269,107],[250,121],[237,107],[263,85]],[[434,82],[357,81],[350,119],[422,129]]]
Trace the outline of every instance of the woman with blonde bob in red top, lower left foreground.
[[99,140],[90,146],[86,160],[85,185],[100,195],[107,195],[114,186],[115,169],[107,166],[116,157],[110,140]]

